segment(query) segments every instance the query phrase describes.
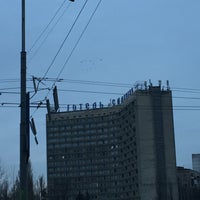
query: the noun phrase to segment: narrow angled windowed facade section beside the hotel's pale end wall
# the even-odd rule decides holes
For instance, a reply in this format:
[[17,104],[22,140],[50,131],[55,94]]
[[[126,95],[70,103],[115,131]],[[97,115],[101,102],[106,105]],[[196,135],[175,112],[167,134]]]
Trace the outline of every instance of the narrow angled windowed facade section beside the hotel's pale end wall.
[[124,105],[120,116],[120,198],[139,199],[137,128],[134,97]]

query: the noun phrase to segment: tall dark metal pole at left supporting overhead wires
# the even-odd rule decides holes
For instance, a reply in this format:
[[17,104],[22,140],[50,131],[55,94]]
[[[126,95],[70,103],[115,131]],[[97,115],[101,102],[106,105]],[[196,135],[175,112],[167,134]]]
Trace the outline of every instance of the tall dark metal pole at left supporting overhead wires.
[[[25,51],[25,0],[22,0],[22,50],[21,50],[21,114],[20,114],[20,200],[27,198],[27,164],[29,151],[27,149],[27,123],[29,104],[26,94],[26,51]],[[29,147],[28,147],[29,148]]]

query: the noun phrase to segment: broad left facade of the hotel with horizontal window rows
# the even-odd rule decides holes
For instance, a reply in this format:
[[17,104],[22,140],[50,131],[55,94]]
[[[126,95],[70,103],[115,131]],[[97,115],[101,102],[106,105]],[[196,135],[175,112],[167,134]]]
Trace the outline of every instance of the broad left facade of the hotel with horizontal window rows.
[[[89,192],[94,199],[113,199],[120,192],[116,187],[121,178],[118,176],[120,143],[117,135],[120,125],[116,124],[115,113],[111,115],[108,111],[52,115],[47,132],[53,129],[55,133],[54,127],[59,127],[56,135],[62,136],[48,138],[47,148],[53,148],[47,155],[53,161],[48,162],[50,165],[57,163],[56,168],[60,169],[56,173],[56,168],[48,165],[52,199],[58,190],[61,196],[67,193],[69,199],[74,199],[79,191]],[[68,188],[58,186],[55,189],[54,181],[61,179],[61,184],[67,182]]]

